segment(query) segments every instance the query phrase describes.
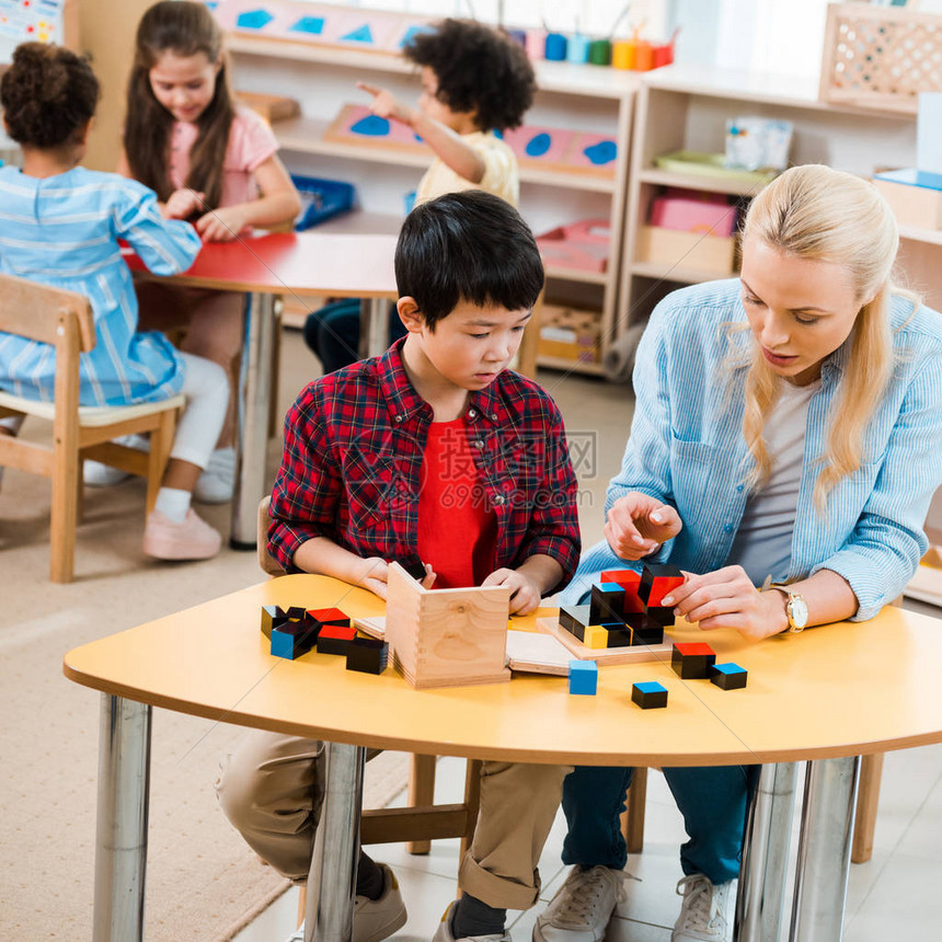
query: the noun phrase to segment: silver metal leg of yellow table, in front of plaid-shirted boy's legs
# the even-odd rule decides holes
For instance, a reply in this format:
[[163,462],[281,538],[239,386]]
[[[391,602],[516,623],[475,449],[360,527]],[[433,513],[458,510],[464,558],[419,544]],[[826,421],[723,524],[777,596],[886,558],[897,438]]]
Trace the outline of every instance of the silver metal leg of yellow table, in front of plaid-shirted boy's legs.
[[305,942],[349,942],[366,750],[341,743],[325,746],[324,803],[308,875]]

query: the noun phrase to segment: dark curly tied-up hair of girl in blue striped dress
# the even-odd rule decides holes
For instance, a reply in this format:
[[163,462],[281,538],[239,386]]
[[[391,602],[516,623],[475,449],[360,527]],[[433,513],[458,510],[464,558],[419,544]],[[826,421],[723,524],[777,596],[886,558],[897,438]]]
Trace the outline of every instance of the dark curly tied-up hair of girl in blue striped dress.
[[91,66],[61,46],[21,44],[0,82],[10,137],[37,150],[73,141],[97,103],[99,80]]

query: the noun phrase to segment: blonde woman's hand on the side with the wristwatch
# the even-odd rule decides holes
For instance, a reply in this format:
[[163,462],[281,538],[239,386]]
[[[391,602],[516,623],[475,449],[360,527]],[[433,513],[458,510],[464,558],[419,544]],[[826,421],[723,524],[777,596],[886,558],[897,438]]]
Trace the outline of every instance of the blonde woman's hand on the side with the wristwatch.
[[750,641],[761,641],[789,627],[785,596],[759,591],[742,566],[725,566],[702,576],[685,573],[686,582],[664,597],[674,613],[700,628],[735,628]]

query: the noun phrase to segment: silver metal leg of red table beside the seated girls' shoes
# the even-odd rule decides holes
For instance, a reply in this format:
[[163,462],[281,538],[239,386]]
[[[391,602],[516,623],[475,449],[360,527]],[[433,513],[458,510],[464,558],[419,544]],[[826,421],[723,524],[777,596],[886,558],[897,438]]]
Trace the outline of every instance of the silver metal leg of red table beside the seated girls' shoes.
[[259,502],[265,495],[268,414],[272,399],[272,349],[275,343],[275,297],[245,296],[245,333],[239,372],[236,433],[236,485],[232,492],[234,550],[255,549]]

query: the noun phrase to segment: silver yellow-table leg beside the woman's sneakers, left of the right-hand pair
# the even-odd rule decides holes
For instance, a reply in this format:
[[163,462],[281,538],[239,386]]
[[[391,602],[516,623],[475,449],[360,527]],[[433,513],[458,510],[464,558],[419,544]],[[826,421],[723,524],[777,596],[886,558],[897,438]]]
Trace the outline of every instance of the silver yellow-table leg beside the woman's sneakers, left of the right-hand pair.
[[794,762],[759,770],[739,868],[733,935],[737,942],[778,942],[781,933],[795,778]]

